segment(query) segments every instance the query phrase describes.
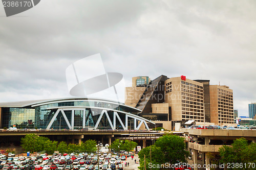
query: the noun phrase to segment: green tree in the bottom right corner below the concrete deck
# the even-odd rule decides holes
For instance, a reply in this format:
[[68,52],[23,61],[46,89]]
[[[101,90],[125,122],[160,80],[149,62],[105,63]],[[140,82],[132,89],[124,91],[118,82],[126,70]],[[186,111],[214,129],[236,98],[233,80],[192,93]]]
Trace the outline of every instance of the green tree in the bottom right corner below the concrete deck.
[[[234,140],[231,144],[232,147],[224,145],[219,149],[220,152],[220,162],[225,163],[238,163],[238,164],[247,164],[256,163],[256,144],[250,143],[245,138],[239,138]],[[243,169],[240,167],[231,167],[230,169]],[[246,169],[253,169],[248,167]]]

